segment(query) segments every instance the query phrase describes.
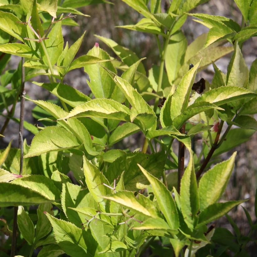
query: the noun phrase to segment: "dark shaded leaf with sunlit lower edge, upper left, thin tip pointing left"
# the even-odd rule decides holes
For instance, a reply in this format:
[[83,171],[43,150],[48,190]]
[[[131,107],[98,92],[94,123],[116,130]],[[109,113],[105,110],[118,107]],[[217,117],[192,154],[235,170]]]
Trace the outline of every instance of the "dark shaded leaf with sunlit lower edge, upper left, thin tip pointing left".
[[50,91],[53,95],[57,96],[60,100],[69,104],[72,107],[76,107],[91,100],[90,97],[86,96],[76,88],[62,83],[38,83],[34,84],[44,87]]

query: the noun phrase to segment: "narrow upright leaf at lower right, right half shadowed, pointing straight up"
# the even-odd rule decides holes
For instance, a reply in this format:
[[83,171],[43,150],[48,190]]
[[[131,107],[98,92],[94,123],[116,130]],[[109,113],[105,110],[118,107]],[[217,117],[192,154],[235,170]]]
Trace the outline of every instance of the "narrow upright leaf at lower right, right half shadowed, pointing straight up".
[[180,203],[184,221],[192,231],[199,211],[199,195],[192,156],[181,179]]

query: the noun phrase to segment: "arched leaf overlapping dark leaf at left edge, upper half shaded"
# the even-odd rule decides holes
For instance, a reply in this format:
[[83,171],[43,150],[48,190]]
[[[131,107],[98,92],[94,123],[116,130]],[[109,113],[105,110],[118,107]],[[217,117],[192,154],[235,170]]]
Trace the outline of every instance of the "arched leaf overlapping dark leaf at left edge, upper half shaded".
[[45,176],[41,175],[30,175],[18,178],[10,182],[10,184],[20,185],[29,189],[32,189],[35,192],[38,192],[44,197],[48,198],[51,201],[60,200],[60,191],[54,185],[54,182]]

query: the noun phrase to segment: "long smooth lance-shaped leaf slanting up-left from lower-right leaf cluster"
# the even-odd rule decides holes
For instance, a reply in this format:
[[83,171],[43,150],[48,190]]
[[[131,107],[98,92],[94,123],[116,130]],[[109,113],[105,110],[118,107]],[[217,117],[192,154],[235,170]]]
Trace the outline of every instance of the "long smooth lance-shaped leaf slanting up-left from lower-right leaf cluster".
[[179,218],[176,204],[170,194],[170,191],[168,191],[168,189],[161,181],[152,176],[142,166],[139,165],[139,168],[151,183],[158,206],[160,207],[160,211],[163,213],[167,223],[171,229],[176,230],[179,227]]

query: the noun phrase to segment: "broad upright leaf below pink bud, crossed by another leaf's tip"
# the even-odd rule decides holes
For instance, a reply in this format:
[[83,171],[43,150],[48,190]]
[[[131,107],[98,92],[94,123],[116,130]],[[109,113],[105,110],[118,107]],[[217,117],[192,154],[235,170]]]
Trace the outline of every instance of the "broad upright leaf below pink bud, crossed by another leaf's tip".
[[[110,60],[108,53],[96,45],[88,51],[87,55],[92,55],[102,60]],[[87,72],[90,78],[90,82],[87,81],[88,86],[96,98],[110,98],[115,87],[114,81],[104,68],[117,74],[110,61],[104,62],[101,65],[93,64],[84,67],[85,72]]]

